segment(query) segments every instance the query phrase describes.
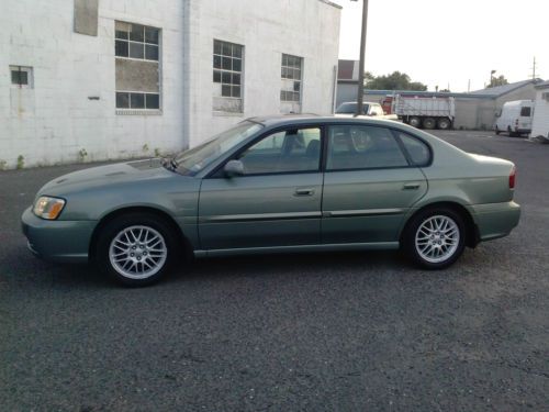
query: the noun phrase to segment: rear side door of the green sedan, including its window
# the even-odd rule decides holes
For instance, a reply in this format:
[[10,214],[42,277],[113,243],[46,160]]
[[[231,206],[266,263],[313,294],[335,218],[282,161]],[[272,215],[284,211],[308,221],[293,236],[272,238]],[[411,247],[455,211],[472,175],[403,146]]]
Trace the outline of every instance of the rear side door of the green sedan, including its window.
[[322,242],[397,241],[405,213],[427,191],[419,166],[428,162],[430,148],[407,134],[379,126],[329,126]]

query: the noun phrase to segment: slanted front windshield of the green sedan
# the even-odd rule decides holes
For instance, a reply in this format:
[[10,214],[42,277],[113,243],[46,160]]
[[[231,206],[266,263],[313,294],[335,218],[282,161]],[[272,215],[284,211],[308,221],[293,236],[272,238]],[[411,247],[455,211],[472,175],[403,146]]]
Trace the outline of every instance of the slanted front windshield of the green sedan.
[[244,121],[233,129],[217,134],[200,146],[181,152],[173,159],[177,165],[177,171],[186,176],[197,175],[231,147],[244,142],[247,137],[261,130],[261,124]]

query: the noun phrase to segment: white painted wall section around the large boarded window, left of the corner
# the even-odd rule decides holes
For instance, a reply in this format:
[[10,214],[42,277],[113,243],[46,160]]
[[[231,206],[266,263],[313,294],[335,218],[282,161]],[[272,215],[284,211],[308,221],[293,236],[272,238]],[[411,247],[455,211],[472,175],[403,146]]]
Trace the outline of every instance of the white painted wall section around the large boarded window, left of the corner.
[[[0,13],[0,162],[14,167],[145,156],[180,148],[183,9],[177,0],[101,0],[98,36],[74,33],[72,1],[18,0]],[[161,115],[117,115],[114,21],[163,29]],[[173,52],[171,52],[173,51]],[[32,66],[34,89],[9,66]],[[89,100],[99,97],[99,100]],[[143,149],[147,145],[148,153]]]

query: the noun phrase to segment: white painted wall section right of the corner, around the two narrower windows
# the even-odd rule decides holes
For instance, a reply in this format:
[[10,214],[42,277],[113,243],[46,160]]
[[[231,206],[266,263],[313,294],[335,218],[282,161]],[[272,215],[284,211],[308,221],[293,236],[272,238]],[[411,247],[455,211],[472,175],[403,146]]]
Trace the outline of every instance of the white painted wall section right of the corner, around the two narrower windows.
[[[312,0],[190,0],[189,100],[191,146],[255,115],[280,113],[282,54],[304,58],[303,113],[332,113],[340,9]],[[212,111],[213,40],[245,46],[244,113]]]

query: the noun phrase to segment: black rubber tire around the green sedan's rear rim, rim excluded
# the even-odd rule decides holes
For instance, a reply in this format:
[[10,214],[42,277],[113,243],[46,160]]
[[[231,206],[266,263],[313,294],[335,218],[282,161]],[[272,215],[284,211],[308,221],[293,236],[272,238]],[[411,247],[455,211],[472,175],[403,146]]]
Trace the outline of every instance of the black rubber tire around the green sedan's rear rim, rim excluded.
[[[425,220],[435,216],[435,215],[444,215],[450,218],[456,222],[459,229],[459,244],[458,248],[453,253],[451,257],[440,263],[432,263],[425,260],[415,247],[415,235],[419,226],[425,222]],[[461,214],[449,208],[436,208],[436,209],[427,209],[417,213],[412,218],[410,223],[405,229],[405,233],[403,236],[403,249],[406,255],[419,267],[429,269],[429,270],[439,270],[445,269],[451,266],[463,253],[466,247],[466,236],[467,236],[466,223]]]

